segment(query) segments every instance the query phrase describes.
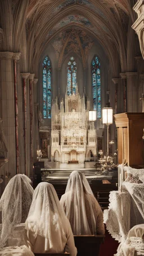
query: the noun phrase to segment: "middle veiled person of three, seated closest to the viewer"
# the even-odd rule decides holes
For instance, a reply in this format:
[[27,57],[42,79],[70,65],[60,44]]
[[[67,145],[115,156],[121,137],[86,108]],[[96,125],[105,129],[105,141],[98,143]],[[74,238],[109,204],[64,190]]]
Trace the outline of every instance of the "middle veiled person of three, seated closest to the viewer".
[[60,205],[55,188],[41,182],[35,188],[25,222],[25,242],[34,253],[77,255],[70,223]]

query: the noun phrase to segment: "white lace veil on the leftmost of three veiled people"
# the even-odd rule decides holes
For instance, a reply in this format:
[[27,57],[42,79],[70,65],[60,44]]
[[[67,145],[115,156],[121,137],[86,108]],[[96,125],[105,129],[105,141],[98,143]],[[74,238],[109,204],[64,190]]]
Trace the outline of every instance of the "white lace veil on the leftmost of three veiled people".
[[13,226],[24,223],[28,217],[33,197],[33,187],[30,182],[25,174],[17,174],[10,179],[3,191],[0,200],[0,211],[2,212],[0,247],[6,244]]

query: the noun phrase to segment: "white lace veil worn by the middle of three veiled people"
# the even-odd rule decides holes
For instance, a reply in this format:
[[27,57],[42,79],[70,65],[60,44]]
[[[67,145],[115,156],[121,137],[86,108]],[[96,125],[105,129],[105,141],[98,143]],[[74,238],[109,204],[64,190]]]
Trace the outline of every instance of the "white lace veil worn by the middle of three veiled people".
[[62,236],[63,241],[66,237],[66,223],[68,220],[60,205],[55,188],[48,182],[39,183],[34,190],[25,229],[33,230],[35,240],[37,235],[44,237],[44,251],[48,251],[57,244],[61,246]]

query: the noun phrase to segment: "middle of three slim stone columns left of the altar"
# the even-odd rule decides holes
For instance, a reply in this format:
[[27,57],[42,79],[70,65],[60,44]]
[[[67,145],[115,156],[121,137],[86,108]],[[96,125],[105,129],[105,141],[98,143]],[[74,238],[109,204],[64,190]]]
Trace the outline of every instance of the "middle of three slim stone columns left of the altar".
[[30,173],[33,169],[33,132],[34,132],[34,125],[33,125],[33,80],[34,74],[29,75],[29,111],[30,111]]

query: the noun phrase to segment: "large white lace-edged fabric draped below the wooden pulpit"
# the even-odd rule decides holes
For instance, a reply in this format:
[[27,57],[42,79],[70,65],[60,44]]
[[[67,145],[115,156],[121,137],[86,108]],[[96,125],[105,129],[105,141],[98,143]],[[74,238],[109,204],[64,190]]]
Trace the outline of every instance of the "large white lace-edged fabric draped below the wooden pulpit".
[[[109,209],[104,211],[104,223],[111,236],[119,242],[125,241],[129,230],[144,223],[144,169],[121,168],[127,172],[122,188],[125,192],[111,191]],[[124,175],[123,175],[124,176]]]

